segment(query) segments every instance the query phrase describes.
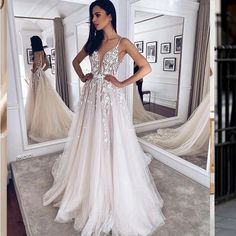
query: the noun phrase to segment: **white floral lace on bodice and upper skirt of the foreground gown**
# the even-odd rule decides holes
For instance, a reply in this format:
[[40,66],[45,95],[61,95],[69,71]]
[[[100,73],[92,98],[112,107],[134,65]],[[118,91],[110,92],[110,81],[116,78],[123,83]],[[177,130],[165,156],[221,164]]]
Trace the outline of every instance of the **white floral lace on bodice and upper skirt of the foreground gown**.
[[[123,91],[112,83],[104,80],[106,74],[117,76],[117,71],[119,68],[118,60],[118,45],[111,50],[107,51],[102,60],[100,61],[100,55],[97,51],[94,51],[90,56],[91,72],[93,74],[93,79],[86,81],[80,103],[81,105],[86,101],[86,103],[92,107],[102,108],[102,123],[104,132],[105,143],[111,142],[110,137],[110,122],[111,121],[111,107],[112,107],[112,96],[115,95],[116,102],[125,109],[125,97]],[[85,91],[88,91],[86,96]],[[94,96],[95,94],[95,96]]]

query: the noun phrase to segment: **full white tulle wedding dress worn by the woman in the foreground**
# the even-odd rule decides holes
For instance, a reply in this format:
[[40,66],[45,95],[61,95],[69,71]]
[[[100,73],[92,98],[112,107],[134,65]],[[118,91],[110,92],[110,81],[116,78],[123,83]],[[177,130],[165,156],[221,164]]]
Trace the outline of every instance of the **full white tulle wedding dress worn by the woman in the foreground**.
[[59,207],[55,220],[74,219],[81,236],[146,236],[164,224],[163,201],[148,169],[121,89],[104,80],[117,75],[118,45],[90,56],[64,153],[54,164],[53,186],[43,204]]

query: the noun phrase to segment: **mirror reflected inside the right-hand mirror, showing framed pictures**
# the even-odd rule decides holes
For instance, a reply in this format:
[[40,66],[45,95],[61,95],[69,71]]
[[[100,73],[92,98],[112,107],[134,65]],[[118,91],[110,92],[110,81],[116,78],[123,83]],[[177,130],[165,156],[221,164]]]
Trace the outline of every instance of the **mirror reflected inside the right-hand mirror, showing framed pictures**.
[[135,11],[135,46],[152,72],[134,85],[134,124],[177,115],[183,24],[183,17]]

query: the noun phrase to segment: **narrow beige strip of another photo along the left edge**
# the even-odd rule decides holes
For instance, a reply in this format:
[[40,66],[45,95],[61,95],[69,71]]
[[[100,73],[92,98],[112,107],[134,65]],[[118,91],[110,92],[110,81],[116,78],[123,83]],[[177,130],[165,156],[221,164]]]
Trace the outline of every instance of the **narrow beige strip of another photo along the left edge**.
[[6,1],[0,0],[0,235],[7,235],[7,31]]

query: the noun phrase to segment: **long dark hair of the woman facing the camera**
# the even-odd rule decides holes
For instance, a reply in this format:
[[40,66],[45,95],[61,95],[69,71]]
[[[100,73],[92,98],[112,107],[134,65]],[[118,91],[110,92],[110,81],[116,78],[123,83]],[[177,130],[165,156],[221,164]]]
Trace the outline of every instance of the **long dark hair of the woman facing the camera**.
[[109,0],[96,0],[91,3],[89,7],[89,17],[90,17],[90,29],[89,29],[89,37],[85,44],[85,52],[90,56],[94,51],[99,49],[101,46],[102,40],[104,39],[103,30],[96,30],[92,19],[93,19],[93,8],[95,6],[101,7],[104,11],[106,11],[107,15],[111,14],[112,21],[111,24],[116,32],[116,10],[113,3]]

